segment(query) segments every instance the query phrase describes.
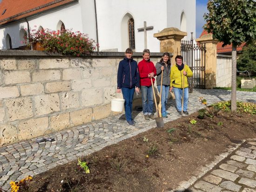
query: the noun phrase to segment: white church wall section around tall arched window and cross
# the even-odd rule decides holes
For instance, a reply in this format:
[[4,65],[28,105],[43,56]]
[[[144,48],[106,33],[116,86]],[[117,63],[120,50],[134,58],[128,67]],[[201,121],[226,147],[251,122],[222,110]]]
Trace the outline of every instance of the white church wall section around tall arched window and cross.
[[[151,52],[159,52],[160,42],[153,35],[166,27],[166,15],[164,12],[162,13],[165,2],[165,0],[129,0],[127,2],[97,0],[100,50],[117,49],[119,52],[125,51],[127,47],[122,46],[121,23],[123,17],[129,13],[135,20],[135,51],[142,52],[144,49],[144,32],[138,32],[137,29],[143,27],[143,21],[146,21],[147,26],[154,26],[153,30],[147,31],[148,49]],[[106,11],[113,14],[107,14]]]

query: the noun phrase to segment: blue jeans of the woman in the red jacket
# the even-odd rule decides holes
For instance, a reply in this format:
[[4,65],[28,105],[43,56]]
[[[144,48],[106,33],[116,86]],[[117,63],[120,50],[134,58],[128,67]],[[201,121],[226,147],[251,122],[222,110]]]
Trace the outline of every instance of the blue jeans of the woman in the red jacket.
[[152,86],[141,86],[142,109],[144,115],[153,113],[153,90]]

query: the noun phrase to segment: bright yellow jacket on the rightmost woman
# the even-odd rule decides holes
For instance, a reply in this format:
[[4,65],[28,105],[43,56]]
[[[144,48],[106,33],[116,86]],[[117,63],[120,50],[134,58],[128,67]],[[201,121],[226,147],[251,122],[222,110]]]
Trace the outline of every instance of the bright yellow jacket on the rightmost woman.
[[[184,81],[183,82],[183,71],[187,72],[187,75],[185,75]],[[176,88],[183,88],[183,83],[184,83],[184,88],[189,86],[188,83],[188,77],[192,77],[193,73],[189,66],[185,65],[184,68],[180,71],[176,65],[172,66],[171,68],[171,74],[170,74],[170,79],[171,79],[171,84],[170,86],[176,87]]]

